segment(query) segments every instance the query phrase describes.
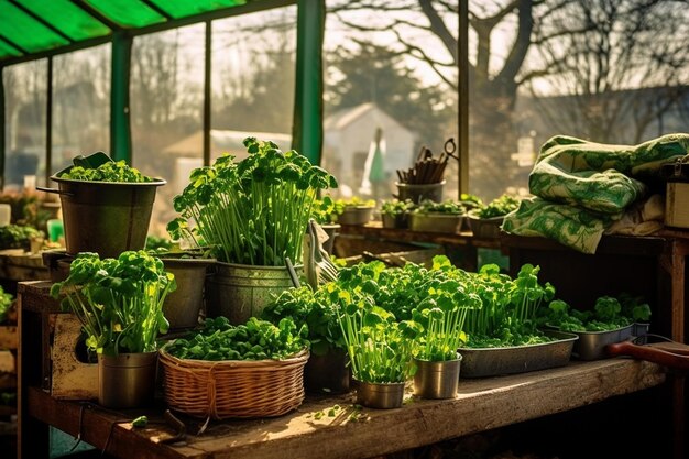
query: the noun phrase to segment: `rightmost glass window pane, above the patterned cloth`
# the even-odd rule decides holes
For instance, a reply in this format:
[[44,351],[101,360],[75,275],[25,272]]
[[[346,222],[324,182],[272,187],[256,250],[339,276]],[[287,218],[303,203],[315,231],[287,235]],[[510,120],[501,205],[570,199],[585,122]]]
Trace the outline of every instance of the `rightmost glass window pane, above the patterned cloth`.
[[472,193],[526,193],[553,135],[637,144],[687,131],[685,4],[546,1],[520,15],[506,0],[469,3]]

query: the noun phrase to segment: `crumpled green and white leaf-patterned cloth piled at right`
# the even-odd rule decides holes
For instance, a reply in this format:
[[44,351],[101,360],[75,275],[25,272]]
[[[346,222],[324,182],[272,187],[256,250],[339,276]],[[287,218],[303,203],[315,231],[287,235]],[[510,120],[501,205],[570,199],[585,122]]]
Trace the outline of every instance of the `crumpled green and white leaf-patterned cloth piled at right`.
[[612,145],[557,135],[540,147],[528,177],[533,198],[508,214],[502,229],[540,236],[595,253],[603,232],[648,194],[660,167],[689,154],[689,134],[638,145]]

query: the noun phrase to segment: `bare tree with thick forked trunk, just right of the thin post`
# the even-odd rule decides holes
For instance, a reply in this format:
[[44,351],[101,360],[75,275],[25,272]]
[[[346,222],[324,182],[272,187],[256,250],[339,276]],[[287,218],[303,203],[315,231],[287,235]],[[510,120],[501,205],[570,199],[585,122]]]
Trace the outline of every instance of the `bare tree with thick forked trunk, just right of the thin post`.
[[[502,193],[514,175],[510,154],[516,147],[516,135],[511,114],[520,84],[517,76],[531,46],[534,23],[538,22],[534,15],[536,8],[545,2],[470,3],[469,24],[475,37],[468,68],[472,108],[470,189],[486,198]],[[551,9],[558,9],[567,0],[550,0],[550,3]],[[458,89],[458,1],[356,0],[336,2],[329,13],[352,31],[372,37],[392,34],[391,48],[431,69],[448,89]],[[514,36],[510,43],[496,45],[493,39],[505,22],[512,24]]]

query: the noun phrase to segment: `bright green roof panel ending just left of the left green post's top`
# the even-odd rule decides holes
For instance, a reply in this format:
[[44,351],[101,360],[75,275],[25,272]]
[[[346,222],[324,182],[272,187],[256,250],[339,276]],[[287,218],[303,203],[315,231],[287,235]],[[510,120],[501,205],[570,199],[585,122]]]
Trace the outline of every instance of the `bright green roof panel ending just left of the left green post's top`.
[[74,41],[89,40],[112,32],[69,0],[22,0],[22,4]]

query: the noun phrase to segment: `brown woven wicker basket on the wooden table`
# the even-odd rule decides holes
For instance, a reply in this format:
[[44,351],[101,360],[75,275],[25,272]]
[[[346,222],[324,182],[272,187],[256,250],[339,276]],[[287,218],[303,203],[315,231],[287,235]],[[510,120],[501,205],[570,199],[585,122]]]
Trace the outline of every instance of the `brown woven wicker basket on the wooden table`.
[[165,401],[196,417],[281,416],[304,401],[307,350],[285,360],[177,359],[160,350]]

